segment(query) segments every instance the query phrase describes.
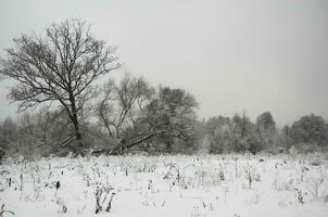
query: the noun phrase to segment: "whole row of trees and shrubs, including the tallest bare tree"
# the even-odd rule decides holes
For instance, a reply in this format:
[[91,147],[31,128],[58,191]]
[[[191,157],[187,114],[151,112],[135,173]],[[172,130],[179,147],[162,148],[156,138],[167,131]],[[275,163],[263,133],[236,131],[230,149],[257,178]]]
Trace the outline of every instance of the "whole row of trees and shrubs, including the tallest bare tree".
[[13,44],[0,60],[0,79],[15,81],[8,98],[24,113],[0,124],[0,157],[327,146],[327,123],[315,115],[283,129],[270,113],[256,123],[245,114],[199,122],[198,103],[186,90],[155,88],[128,74],[105,80],[122,66],[116,49],[79,20],[53,24],[43,37],[22,35]]

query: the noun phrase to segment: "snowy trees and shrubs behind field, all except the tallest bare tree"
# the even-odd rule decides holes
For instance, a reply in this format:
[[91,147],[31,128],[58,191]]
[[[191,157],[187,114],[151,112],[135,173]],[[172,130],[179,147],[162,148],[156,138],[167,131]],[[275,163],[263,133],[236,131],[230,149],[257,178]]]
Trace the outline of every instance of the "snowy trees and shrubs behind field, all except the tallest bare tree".
[[[93,154],[275,154],[328,148],[328,123],[314,114],[278,128],[269,112],[252,123],[245,113],[199,120],[197,110],[186,90],[154,88],[128,74],[118,84],[110,79],[79,113],[84,149]],[[74,145],[74,126],[64,108],[47,106],[0,123],[2,154],[66,155]]]

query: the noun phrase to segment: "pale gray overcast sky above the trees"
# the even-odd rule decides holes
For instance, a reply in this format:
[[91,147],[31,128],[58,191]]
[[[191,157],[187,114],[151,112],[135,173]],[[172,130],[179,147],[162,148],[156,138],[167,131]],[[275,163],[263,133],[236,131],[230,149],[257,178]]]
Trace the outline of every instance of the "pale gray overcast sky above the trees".
[[[201,117],[328,118],[327,0],[0,0],[1,56],[13,37],[73,17],[117,46],[133,75],[188,89]],[[9,86],[0,82],[0,119],[16,112]]]

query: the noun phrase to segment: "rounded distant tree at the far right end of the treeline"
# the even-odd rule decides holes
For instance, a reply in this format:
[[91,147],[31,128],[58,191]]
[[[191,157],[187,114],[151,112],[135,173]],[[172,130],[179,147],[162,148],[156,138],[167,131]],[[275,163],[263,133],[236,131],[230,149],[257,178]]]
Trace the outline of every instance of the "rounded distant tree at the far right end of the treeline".
[[303,116],[294,122],[290,128],[293,143],[308,143],[317,145],[328,144],[328,126],[325,119],[314,114]]

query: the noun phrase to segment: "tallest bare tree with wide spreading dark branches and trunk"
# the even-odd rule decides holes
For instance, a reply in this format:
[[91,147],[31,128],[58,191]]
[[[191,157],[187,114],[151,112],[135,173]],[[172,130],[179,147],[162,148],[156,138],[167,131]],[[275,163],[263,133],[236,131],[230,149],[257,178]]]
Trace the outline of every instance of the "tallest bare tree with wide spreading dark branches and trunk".
[[66,112],[78,152],[83,145],[79,113],[94,97],[93,81],[119,67],[115,49],[90,35],[89,25],[79,20],[53,24],[45,38],[22,35],[1,60],[0,75],[13,78],[9,99],[25,111],[47,102],[58,102]]

